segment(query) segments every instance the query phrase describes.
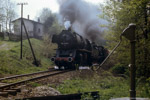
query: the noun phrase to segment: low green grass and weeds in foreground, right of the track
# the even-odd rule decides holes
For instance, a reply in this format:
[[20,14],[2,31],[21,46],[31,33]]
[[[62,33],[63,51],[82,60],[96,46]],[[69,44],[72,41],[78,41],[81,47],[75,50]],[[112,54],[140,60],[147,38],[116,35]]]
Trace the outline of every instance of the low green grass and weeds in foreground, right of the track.
[[[104,71],[100,75],[87,75],[86,78],[76,77],[66,80],[56,88],[62,94],[82,93],[89,91],[99,91],[100,100],[109,100],[110,98],[129,97],[129,78],[115,77],[110,72]],[[150,86],[150,84],[147,84]],[[149,88],[144,84],[137,87],[137,97],[150,97]]]

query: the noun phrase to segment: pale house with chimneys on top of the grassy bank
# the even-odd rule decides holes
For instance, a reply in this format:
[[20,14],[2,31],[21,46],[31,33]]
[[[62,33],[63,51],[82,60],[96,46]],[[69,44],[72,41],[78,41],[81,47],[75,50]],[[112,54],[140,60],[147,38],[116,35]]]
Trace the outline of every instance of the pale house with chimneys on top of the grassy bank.
[[[29,37],[34,37],[34,38],[41,38],[44,34],[44,25],[40,23],[40,20],[38,22],[30,20],[29,16],[28,19],[23,18],[23,21],[25,23],[26,29],[28,31]],[[21,34],[21,18],[18,18],[16,20],[12,21],[13,23],[13,30],[15,35],[20,35]],[[23,26],[23,36],[26,36],[24,26]]]

